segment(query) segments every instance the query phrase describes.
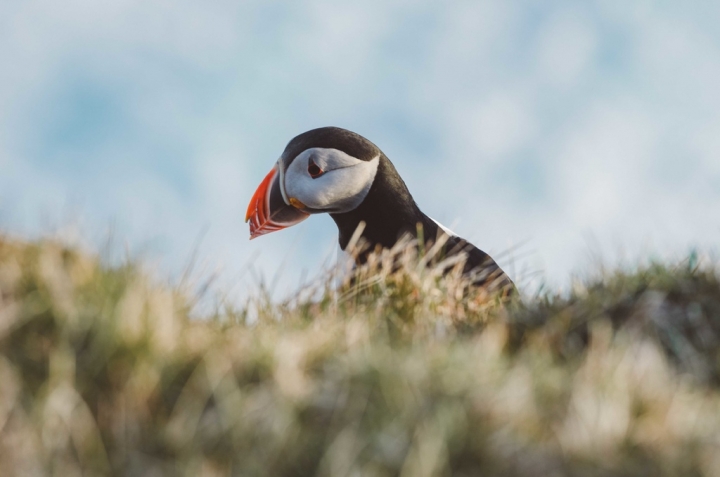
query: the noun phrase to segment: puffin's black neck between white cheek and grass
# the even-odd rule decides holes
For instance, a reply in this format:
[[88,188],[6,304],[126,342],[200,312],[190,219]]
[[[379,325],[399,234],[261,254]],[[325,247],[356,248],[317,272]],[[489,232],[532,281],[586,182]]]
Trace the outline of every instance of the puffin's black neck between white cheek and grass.
[[360,222],[365,223],[362,237],[370,249],[376,245],[390,248],[404,234],[416,237],[418,224],[423,227],[426,236],[437,233],[437,225],[420,211],[402,178],[385,156],[380,156],[375,180],[362,204],[350,212],[330,215],[338,226],[343,250]]

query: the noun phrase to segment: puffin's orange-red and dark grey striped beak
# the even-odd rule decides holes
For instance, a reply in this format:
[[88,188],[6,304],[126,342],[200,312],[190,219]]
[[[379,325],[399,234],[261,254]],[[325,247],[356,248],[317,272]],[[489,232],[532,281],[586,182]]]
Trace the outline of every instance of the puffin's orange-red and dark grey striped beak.
[[250,240],[298,224],[309,214],[285,203],[282,173],[275,165],[250,199],[245,222],[250,222]]

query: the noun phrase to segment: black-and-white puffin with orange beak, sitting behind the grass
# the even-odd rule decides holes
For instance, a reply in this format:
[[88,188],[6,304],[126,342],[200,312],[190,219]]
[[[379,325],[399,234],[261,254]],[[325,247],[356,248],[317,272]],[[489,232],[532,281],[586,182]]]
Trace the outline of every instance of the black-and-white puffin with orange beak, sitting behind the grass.
[[[392,248],[404,236],[427,247],[444,241],[443,255],[463,254],[463,275],[474,286],[514,294],[510,277],[488,255],[423,213],[390,159],[363,136],[322,127],[293,138],[250,200],[250,239],[291,227],[313,214],[329,214],[346,251],[356,230],[367,245],[355,255]],[[361,224],[364,224],[364,228]]]

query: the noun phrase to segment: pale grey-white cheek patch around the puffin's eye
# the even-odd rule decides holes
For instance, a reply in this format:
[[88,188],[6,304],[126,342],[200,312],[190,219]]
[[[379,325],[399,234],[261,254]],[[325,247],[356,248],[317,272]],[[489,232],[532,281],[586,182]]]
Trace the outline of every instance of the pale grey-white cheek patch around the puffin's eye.
[[[315,179],[308,161],[325,173]],[[285,171],[285,192],[312,209],[349,212],[359,206],[372,187],[380,157],[361,161],[337,149],[312,148],[299,154]]]

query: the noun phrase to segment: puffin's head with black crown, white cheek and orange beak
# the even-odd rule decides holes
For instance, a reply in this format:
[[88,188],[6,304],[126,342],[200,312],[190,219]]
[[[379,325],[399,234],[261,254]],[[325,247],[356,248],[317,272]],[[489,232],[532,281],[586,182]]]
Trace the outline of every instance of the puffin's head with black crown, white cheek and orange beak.
[[302,222],[342,214],[370,192],[382,152],[346,129],[313,129],[293,138],[248,205],[250,239]]

